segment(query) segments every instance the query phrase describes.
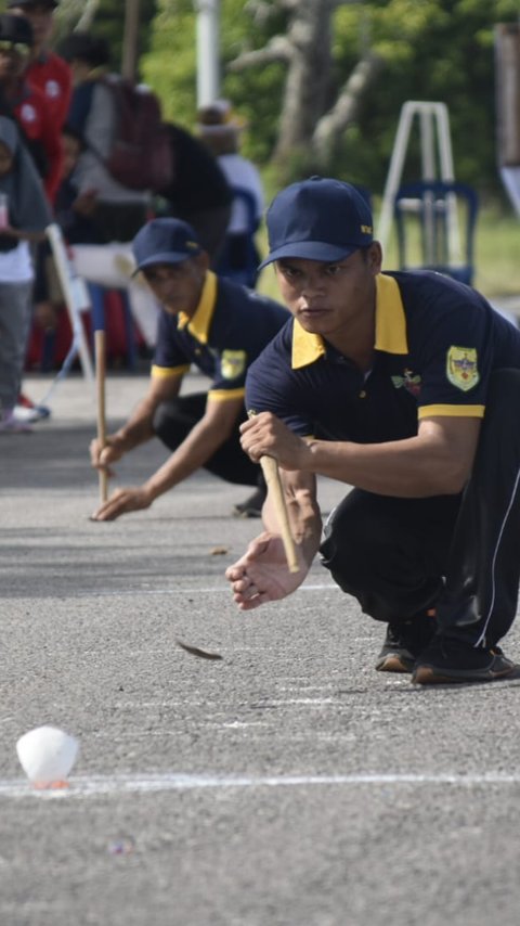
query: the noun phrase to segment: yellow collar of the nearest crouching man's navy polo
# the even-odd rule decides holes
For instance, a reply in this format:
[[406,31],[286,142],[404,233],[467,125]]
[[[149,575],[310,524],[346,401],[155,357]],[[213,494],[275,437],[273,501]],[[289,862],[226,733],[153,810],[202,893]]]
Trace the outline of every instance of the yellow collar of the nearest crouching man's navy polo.
[[[376,276],[376,350],[407,353],[406,317],[399,286],[393,276]],[[292,326],[292,370],[315,363],[326,352],[321,334],[310,334],[295,319]]]

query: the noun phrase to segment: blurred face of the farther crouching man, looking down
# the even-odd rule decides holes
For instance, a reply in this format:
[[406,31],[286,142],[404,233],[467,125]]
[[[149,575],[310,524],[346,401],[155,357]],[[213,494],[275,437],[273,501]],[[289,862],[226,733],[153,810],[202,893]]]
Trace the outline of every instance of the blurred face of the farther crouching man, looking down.
[[179,263],[153,263],[145,267],[143,276],[156,299],[169,314],[193,314],[200,300],[207,260],[205,255]]

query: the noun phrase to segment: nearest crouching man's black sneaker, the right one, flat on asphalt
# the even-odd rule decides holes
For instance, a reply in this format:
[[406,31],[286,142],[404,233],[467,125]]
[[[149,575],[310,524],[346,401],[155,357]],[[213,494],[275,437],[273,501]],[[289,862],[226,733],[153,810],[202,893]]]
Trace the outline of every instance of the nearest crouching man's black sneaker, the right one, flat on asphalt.
[[520,666],[504,656],[499,646],[480,650],[460,640],[438,635],[417,659],[412,682],[443,685],[510,678],[520,678]]

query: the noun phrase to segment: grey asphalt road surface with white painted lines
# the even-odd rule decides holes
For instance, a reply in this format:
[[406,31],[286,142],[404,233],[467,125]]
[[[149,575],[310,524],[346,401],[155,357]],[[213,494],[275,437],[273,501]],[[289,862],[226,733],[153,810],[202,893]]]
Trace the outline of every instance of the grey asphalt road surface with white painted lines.
[[[109,429],[144,387],[108,377]],[[247,487],[202,473],[93,523],[92,390],[75,374],[51,408],[0,436],[1,926],[518,926],[520,683],[375,672],[384,628],[318,563],[240,614]],[[324,512],[343,490],[321,483]],[[46,723],[80,742],[64,790],[17,760]]]

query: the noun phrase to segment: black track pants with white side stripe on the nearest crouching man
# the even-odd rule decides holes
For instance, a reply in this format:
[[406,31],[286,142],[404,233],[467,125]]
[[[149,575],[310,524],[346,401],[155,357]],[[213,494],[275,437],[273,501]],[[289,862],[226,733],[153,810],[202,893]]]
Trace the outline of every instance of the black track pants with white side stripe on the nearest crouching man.
[[325,527],[323,564],[376,620],[435,606],[443,632],[492,646],[517,608],[519,483],[520,371],[499,370],[464,494],[394,499],[353,489]]

